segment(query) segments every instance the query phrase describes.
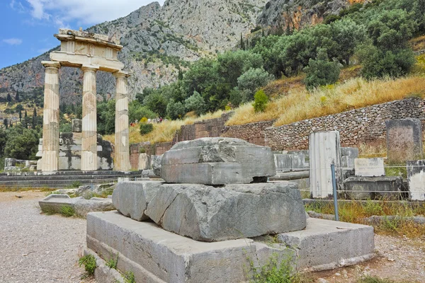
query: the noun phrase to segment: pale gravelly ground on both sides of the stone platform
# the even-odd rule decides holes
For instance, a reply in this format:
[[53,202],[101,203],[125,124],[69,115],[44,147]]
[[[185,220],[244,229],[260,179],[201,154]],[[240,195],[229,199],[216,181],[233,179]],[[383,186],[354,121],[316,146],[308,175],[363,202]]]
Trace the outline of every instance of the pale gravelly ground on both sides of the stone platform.
[[[86,221],[40,212],[44,192],[0,192],[0,282],[86,282],[78,266]],[[21,198],[18,198],[19,196]],[[315,282],[356,282],[365,275],[425,282],[425,238],[375,236],[378,257],[339,270],[312,274]]]

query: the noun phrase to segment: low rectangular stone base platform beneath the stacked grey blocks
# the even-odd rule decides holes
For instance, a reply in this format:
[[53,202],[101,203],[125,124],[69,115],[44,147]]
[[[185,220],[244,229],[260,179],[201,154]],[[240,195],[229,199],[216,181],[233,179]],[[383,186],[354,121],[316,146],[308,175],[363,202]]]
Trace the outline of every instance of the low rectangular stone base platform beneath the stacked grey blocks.
[[[326,270],[373,258],[373,228],[323,219],[307,219],[305,231],[278,235],[282,243],[244,238],[206,243],[164,231],[118,212],[87,216],[87,250],[103,260],[116,258],[118,270],[133,272],[136,282],[249,282],[249,261],[263,266],[272,255],[299,270]],[[98,261],[100,259],[98,258]],[[105,269],[102,282],[114,282]]]

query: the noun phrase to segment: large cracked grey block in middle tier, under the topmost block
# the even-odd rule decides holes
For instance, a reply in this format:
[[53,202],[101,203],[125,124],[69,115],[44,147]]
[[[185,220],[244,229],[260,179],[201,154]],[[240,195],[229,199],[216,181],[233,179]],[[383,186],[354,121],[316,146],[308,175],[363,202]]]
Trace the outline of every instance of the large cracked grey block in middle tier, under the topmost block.
[[293,183],[212,187],[164,184],[145,212],[163,229],[197,241],[225,241],[305,228]]

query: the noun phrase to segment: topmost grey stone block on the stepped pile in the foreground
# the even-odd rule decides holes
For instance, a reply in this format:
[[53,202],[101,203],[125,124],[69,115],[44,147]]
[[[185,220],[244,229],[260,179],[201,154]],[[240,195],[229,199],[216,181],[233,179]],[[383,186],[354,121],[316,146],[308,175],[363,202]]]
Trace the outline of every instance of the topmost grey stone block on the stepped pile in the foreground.
[[166,183],[258,183],[276,175],[269,147],[222,137],[181,141],[166,151],[161,165]]

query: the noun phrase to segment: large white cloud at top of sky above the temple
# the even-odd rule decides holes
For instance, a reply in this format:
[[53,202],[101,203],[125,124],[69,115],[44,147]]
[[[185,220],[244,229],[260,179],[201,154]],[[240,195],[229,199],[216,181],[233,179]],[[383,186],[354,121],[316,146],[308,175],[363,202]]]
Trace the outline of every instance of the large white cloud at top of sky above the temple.
[[[56,25],[67,25],[77,21],[91,25],[112,21],[127,16],[152,0],[26,0],[31,15],[38,20],[53,21]],[[164,0],[159,0],[164,4]],[[61,26],[62,27],[62,26]]]

